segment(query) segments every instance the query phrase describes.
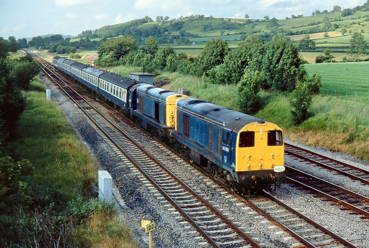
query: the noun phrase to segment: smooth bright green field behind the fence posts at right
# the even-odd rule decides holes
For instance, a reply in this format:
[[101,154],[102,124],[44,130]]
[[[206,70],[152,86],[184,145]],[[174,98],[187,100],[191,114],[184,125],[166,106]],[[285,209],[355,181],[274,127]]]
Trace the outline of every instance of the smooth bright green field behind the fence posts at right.
[[307,64],[306,70],[311,75],[314,70],[322,75],[323,87],[320,93],[335,96],[341,99],[355,100],[357,92],[358,101],[368,102],[369,97],[369,62],[348,63],[322,63]]

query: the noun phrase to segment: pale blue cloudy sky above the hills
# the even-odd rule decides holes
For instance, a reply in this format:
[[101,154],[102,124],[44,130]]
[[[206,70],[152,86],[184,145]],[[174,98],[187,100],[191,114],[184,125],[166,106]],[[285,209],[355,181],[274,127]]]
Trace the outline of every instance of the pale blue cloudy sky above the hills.
[[0,0],[0,37],[77,35],[104,25],[124,23],[146,15],[169,19],[191,14],[226,18],[284,19],[311,15],[338,5],[354,8],[366,0]]

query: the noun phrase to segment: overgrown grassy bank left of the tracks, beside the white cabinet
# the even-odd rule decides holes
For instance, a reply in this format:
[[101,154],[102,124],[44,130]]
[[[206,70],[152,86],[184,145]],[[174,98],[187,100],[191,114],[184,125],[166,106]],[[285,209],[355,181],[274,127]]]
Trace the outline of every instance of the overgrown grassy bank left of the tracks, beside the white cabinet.
[[91,183],[97,185],[97,163],[58,104],[46,100],[45,90],[36,77],[23,92],[27,105],[18,121],[14,157],[34,166],[27,185],[35,209],[18,210],[8,241],[21,247],[56,242],[58,247],[137,247],[113,207],[88,193]]

